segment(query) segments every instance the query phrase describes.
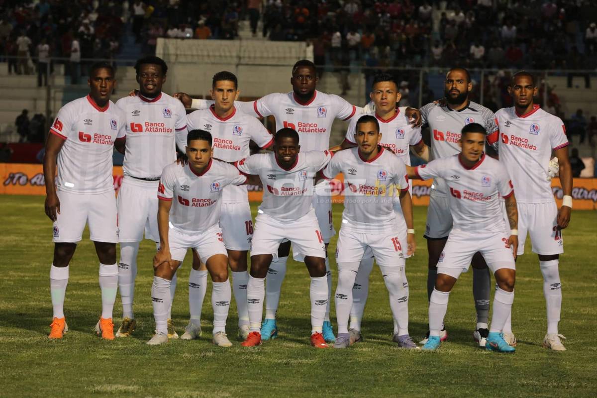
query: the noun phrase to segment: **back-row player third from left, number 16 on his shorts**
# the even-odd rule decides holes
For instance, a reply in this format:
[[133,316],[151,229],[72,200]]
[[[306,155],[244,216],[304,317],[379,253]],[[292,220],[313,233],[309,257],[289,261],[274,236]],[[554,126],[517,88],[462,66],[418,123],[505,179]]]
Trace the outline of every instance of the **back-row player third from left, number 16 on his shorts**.
[[[219,72],[213,77],[211,97],[214,104],[208,109],[196,110],[187,118],[189,129],[205,129],[213,137],[214,157],[224,162],[236,162],[247,158],[249,141],[254,141],[261,149],[273,144],[272,134],[253,116],[237,110],[234,106],[238,98],[238,81],[230,72]],[[180,103],[180,106],[183,105]],[[220,226],[224,245],[228,252],[228,264],[232,270],[232,282],[236,308],[238,310],[238,332],[242,340],[249,334],[249,314],[247,312],[247,251],[251,248],[253,218],[246,187],[228,186],[223,190]],[[195,281],[197,277],[202,280]],[[189,325],[183,338],[197,338],[201,334],[201,303],[205,289],[193,288],[195,282],[205,286],[207,271],[197,269],[196,261],[189,280]]]

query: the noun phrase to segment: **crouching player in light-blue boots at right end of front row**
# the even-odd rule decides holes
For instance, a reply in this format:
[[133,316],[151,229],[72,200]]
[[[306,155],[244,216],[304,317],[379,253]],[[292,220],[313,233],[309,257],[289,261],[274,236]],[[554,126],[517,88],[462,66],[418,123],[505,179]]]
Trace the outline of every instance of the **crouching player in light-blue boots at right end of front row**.
[[[482,125],[470,123],[460,131],[462,149],[458,155],[435,159],[416,168],[407,167],[408,177],[443,179],[450,193],[448,207],[454,220],[438,260],[438,274],[429,300],[429,338],[423,350],[439,348],[450,291],[460,273],[468,269],[473,255],[481,252],[497,282],[485,348],[515,351],[504,341],[501,331],[514,301],[514,260],[518,246],[516,199],[506,168],[484,153],[485,135]],[[510,233],[506,232],[500,196],[506,202]]]

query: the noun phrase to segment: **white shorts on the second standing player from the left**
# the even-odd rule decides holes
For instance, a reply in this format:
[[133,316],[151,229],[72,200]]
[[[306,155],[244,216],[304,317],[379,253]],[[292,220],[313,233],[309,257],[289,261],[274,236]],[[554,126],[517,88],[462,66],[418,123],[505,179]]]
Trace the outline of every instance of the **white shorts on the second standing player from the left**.
[[118,191],[118,241],[141,242],[146,239],[159,242],[158,181],[141,181],[124,176]]

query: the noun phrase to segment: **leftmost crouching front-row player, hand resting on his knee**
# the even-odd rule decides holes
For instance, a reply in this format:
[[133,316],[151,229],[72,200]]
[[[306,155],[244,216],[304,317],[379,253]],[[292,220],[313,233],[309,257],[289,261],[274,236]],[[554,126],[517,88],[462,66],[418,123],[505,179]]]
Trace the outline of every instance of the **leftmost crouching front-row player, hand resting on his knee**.
[[151,292],[156,332],[147,342],[149,345],[168,342],[170,282],[189,248],[197,252],[213,281],[213,343],[220,347],[232,345],[226,337],[226,318],[232,292],[219,224],[220,208],[224,187],[245,184],[247,176],[226,162],[212,159],[211,144],[209,132],[190,131],[186,145],[188,162],[183,167],[176,163],[167,165],[159,180],[160,248],[153,258]]

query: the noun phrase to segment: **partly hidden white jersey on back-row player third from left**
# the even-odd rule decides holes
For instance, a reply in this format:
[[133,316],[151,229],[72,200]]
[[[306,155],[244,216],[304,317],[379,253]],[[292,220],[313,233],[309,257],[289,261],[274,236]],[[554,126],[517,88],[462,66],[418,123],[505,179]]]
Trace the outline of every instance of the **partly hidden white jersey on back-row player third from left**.
[[[247,158],[250,155],[250,140],[253,140],[261,149],[273,144],[273,136],[263,124],[238,109],[234,109],[232,115],[226,119],[216,115],[213,105],[208,109],[196,110],[187,116],[187,127],[189,131],[194,129],[209,131],[213,141],[213,156],[224,162],[236,162]],[[184,145],[186,145],[186,138]],[[247,187],[227,186],[222,200],[227,203],[247,202]]]

